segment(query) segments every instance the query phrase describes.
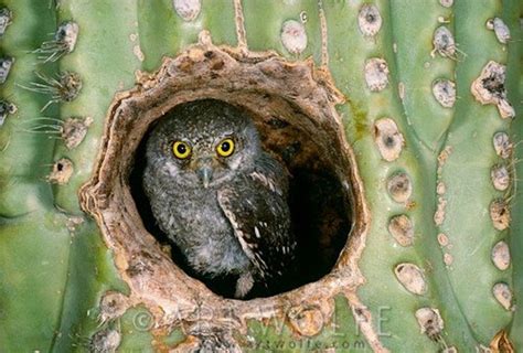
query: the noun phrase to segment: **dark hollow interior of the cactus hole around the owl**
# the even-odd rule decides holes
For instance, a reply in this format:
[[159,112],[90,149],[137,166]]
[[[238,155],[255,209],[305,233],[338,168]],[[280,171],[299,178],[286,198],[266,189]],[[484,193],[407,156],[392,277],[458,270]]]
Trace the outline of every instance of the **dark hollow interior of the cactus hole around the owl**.
[[[245,299],[274,296],[329,274],[352,227],[349,165],[338,133],[331,125],[309,118],[281,98],[264,96],[263,99],[270,100],[274,108],[270,113],[255,110],[255,105],[252,109],[238,106],[255,120],[265,150],[278,158],[290,173],[288,202],[298,242],[297,261],[289,278],[269,288],[255,286]],[[243,100],[243,104],[249,105],[249,99]],[[215,293],[233,298],[236,277],[199,277],[156,225],[141,186],[146,140],[147,133],[135,154],[129,175],[131,193],[146,229],[164,245],[164,249],[170,250],[173,261],[189,276],[200,279]]]

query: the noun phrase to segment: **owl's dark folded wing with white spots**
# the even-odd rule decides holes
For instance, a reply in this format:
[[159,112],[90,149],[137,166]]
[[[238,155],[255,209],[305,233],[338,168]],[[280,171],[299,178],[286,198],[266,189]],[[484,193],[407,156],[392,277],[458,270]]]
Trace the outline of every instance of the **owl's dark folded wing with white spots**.
[[277,181],[255,171],[241,185],[220,190],[217,197],[256,274],[264,279],[281,276],[292,261],[296,242]]

